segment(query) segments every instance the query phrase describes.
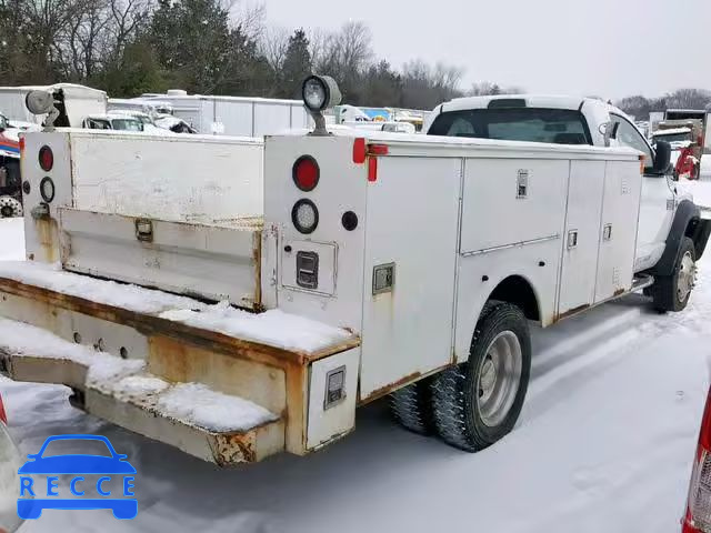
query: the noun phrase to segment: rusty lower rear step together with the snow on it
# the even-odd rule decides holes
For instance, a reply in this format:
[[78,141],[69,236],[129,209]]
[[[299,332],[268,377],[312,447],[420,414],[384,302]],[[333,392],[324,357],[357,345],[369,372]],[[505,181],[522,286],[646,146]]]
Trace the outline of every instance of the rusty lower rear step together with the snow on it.
[[0,319],[0,370],[16,381],[62,383],[74,405],[220,465],[283,450],[283,423],[268,410],[198,383],[171,383],[122,360],[32,325]]

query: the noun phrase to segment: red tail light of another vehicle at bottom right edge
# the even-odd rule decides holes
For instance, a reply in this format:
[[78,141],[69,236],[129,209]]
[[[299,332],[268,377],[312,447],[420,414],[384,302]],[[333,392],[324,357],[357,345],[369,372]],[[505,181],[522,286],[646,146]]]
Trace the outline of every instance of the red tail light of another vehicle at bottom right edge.
[[711,391],[701,421],[682,533],[711,533]]

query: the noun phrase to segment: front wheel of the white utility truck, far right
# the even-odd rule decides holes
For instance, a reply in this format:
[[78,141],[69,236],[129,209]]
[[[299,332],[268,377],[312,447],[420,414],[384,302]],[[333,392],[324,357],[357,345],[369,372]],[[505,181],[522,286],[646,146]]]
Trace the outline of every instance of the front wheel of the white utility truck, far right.
[[657,311],[682,311],[689,303],[697,279],[697,258],[693,241],[684,237],[681,241],[674,272],[660,275],[652,285],[652,298]]

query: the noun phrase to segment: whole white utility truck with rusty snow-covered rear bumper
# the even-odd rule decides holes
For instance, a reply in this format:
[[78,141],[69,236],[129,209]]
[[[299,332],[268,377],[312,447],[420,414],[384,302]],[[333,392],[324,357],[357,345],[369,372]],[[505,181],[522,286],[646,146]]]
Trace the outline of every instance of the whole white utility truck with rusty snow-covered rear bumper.
[[519,416],[529,322],[643,288],[687,304],[710,224],[647,188],[668,145],[328,131],[333,81],[303,95],[316,128],[268,137],[263,180],[229,162],[243,140],[28,133],[3,372],[220,465],[319,450],[389,394],[405,428],[477,451]]

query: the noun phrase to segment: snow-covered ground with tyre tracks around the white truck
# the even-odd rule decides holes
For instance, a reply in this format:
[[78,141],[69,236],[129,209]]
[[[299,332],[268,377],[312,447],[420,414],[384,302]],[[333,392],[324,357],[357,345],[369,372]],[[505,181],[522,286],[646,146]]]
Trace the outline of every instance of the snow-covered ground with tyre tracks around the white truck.
[[[3,257],[21,227],[0,221]],[[70,408],[68,390],[0,381],[23,453],[100,433],[137,467],[139,514],[47,511],[21,531],[679,532],[711,369],[711,262],[680,314],[629,296],[534,335],[518,428],[467,454],[393,425],[377,403],[308,457],[220,471]]]

